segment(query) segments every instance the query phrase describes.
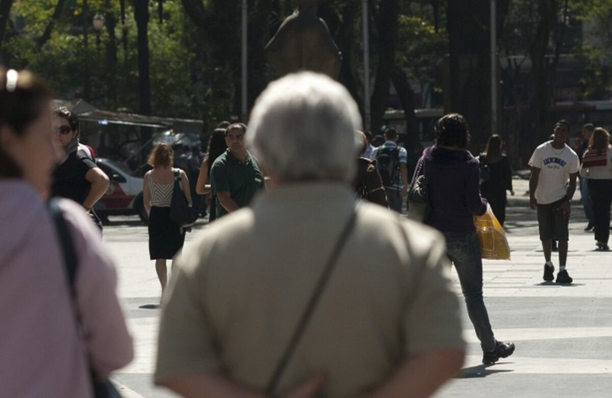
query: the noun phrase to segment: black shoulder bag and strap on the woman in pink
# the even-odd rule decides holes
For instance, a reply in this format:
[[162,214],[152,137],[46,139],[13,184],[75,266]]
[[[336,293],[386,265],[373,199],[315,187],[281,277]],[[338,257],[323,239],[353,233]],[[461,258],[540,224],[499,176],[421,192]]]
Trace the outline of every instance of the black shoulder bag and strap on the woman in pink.
[[[62,246],[65,271],[68,279],[68,285],[70,287],[70,299],[74,302],[76,297],[75,280],[76,271],[78,270],[78,259],[76,257],[75,248],[72,244],[72,237],[70,236],[70,230],[66,220],[64,219],[64,214],[62,214],[62,210],[59,208],[58,198],[52,198],[48,203],[48,207],[51,212],[51,217],[53,217],[53,221],[58,232],[59,241]],[[74,307],[76,311],[76,304]],[[75,318],[76,326],[80,328],[81,318],[76,313]],[[119,391],[117,391],[113,383],[111,383],[108,378],[100,379],[96,377],[94,370],[91,369],[91,366],[89,370],[91,373],[91,383],[95,398],[121,398],[121,394],[119,394]]]

